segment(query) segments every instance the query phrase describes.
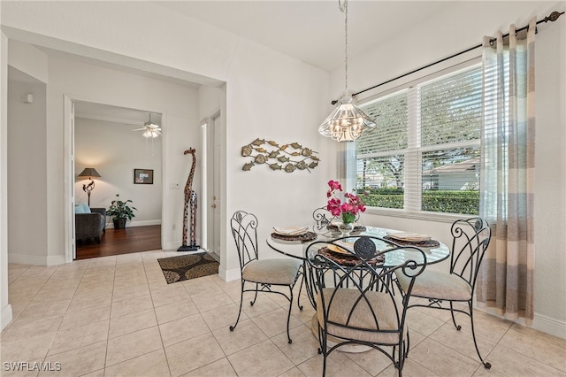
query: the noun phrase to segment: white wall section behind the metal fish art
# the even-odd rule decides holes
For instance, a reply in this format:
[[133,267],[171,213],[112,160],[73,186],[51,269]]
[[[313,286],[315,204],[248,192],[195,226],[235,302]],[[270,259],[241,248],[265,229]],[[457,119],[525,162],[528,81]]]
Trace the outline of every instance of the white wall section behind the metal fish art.
[[[241,43],[234,55],[226,95],[226,216],[237,210],[256,214],[263,258],[278,256],[263,241],[272,227],[309,225],[314,208],[325,204],[325,182],[335,175],[330,150],[336,148],[317,132],[324,120],[326,79],[325,73],[255,43]],[[310,173],[272,171],[267,165],[244,172],[249,158],[241,157],[241,147],[256,138],[298,142],[317,151],[321,162]],[[228,266],[232,262],[235,268],[231,234],[226,242],[232,252]]]

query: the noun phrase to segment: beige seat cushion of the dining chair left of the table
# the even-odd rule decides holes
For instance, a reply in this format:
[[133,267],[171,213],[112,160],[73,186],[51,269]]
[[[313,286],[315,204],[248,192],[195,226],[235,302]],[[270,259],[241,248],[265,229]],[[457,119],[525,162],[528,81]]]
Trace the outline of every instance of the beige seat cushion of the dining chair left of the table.
[[260,259],[252,260],[244,266],[241,278],[245,281],[276,285],[294,283],[301,261],[298,259]]

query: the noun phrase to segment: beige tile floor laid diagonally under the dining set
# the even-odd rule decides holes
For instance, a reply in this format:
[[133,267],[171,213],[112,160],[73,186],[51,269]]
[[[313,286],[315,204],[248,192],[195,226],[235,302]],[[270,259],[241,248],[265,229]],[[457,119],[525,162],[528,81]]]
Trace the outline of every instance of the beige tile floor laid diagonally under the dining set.
[[[313,310],[293,307],[292,344],[285,301],[260,296],[238,312],[240,282],[218,276],[166,284],[146,251],[51,267],[9,265],[13,320],[0,337],[1,375],[319,376],[322,357],[310,333]],[[249,294],[251,295],[251,294]],[[249,301],[249,296],[246,298]],[[566,340],[476,313],[480,365],[466,318],[455,331],[449,313],[409,311],[406,376],[566,376]],[[462,320],[463,319],[463,320]],[[59,372],[6,370],[6,362],[60,363]],[[377,351],[334,352],[328,376],[394,376]],[[47,365],[47,364],[43,364]]]

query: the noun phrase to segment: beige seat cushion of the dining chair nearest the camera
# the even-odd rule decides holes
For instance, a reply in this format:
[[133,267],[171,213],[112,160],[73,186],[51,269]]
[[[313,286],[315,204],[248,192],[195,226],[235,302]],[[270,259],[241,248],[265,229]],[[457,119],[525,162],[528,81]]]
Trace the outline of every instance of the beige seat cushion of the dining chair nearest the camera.
[[[328,333],[339,336],[344,339],[355,339],[364,342],[377,342],[381,344],[397,344],[399,343],[399,322],[397,319],[397,310],[402,315],[402,298],[400,295],[392,296],[381,292],[367,292],[371,309],[375,312],[378,319],[373,318],[370,305],[364,299],[356,304],[356,300],[360,297],[358,289],[336,289],[336,294],[332,298],[333,288],[325,288],[317,295],[317,317],[321,327],[325,327],[324,311],[328,311],[328,321],[340,325],[348,325],[349,327],[357,327],[364,330],[357,330],[348,327],[342,327],[333,323],[328,324]],[[322,295],[325,296],[325,308],[322,304]],[[356,304],[356,309],[352,313],[348,321],[348,316],[352,308]],[[327,308],[330,307],[328,310]],[[397,309],[396,309],[397,308]],[[388,331],[388,332],[378,332]]]

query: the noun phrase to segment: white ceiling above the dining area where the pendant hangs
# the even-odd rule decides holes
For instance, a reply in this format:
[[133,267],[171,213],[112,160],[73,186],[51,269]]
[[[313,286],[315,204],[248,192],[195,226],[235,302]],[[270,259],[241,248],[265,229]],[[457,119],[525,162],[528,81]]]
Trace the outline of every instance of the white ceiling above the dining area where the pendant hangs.
[[[157,1],[325,71],[344,64],[338,0]],[[356,56],[446,9],[446,1],[348,2],[348,56]]]

